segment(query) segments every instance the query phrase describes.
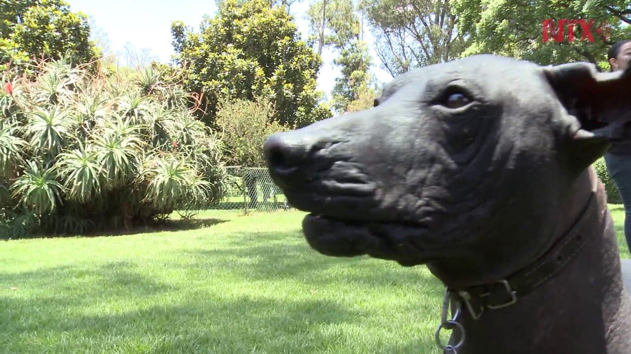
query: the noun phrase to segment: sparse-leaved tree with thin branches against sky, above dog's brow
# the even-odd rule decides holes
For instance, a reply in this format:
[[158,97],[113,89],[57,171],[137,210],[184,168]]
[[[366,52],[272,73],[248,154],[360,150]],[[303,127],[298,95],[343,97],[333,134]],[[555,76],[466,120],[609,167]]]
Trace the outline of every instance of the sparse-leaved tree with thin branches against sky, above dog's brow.
[[362,0],[382,68],[393,77],[446,62],[468,45],[449,0]]

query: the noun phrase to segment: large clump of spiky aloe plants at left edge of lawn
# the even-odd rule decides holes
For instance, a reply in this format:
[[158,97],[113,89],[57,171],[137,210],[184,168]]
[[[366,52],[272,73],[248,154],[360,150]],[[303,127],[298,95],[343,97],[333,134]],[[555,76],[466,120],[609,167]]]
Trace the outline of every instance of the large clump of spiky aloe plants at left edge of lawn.
[[220,140],[158,69],[39,65],[0,81],[0,234],[130,229],[220,200]]

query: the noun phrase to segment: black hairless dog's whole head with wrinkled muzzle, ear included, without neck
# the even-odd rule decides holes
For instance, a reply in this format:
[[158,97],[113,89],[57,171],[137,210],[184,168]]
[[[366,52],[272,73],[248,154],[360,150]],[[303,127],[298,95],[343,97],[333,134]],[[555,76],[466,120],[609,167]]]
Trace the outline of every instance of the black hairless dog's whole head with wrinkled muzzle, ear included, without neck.
[[572,182],[627,139],[630,89],[628,71],[477,55],[396,77],[374,108],[264,151],[320,253],[484,277],[550,242]]

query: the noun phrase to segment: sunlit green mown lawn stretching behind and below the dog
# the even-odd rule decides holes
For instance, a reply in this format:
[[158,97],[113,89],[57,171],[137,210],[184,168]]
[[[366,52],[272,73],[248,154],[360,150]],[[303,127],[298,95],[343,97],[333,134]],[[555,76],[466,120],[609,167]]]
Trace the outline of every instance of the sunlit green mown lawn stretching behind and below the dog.
[[424,266],[322,256],[301,212],[223,213],[187,231],[0,241],[0,353],[439,353],[442,287]]

